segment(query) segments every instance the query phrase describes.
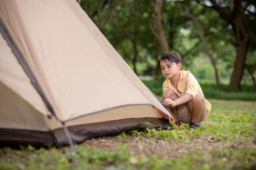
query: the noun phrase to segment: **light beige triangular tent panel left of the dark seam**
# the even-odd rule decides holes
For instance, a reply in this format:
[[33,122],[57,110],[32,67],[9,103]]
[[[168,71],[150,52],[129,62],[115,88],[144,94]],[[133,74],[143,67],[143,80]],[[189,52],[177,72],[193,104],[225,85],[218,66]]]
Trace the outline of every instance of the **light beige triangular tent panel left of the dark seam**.
[[[30,79],[15,55],[13,55],[12,49],[8,46],[2,34],[0,34],[0,51],[1,82],[6,85],[6,88],[8,87],[20,94],[31,106],[35,106],[36,110],[47,114],[48,110],[42,102],[42,98],[31,85]],[[8,111],[6,112],[8,113]]]

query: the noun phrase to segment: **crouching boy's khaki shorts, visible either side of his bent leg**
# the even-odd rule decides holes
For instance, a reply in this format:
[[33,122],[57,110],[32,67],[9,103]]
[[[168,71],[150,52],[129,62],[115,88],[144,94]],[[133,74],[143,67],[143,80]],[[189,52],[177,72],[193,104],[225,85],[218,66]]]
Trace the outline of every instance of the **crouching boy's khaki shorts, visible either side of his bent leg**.
[[[204,107],[202,110],[202,114],[199,118],[199,123],[203,122],[205,118],[207,118],[207,109],[205,106],[205,99],[203,99]],[[188,103],[180,104],[177,107],[177,115],[179,118],[179,121],[184,124],[189,124],[191,122],[191,113],[189,112]]]

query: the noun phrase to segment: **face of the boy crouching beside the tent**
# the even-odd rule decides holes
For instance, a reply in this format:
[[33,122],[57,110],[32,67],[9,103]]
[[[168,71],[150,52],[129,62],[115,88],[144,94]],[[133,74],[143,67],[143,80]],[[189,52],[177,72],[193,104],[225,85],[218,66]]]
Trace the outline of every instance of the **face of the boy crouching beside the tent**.
[[173,78],[174,76],[179,75],[181,69],[181,63],[176,64],[175,62],[169,62],[168,60],[161,60],[160,61],[160,68],[162,74],[166,78]]

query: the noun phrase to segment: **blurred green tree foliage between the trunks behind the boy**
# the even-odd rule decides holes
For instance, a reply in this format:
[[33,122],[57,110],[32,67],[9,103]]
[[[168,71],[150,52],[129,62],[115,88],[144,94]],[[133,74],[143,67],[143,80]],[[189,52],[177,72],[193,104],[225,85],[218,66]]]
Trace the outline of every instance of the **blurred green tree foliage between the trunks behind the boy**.
[[[162,49],[157,48],[159,42],[156,41],[152,31],[150,31],[148,21],[154,26],[154,14],[148,1],[104,1],[102,8],[100,8],[102,2],[82,0],[81,6],[87,7],[84,11],[120,53],[125,62],[132,69],[136,67],[138,75],[154,75],[155,69],[157,69],[157,57],[161,55]],[[231,9],[230,3],[227,2],[218,1],[225,10]],[[210,6],[204,8],[195,1],[163,1],[161,12],[163,30],[170,49],[180,53],[184,67],[186,66],[192,73],[195,73],[198,80],[216,83],[211,60],[205,52],[195,25],[191,18],[180,15],[179,8],[184,11],[185,5],[188,6],[189,12],[196,17],[209,52],[216,60],[220,82],[229,83],[236,59],[234,32],[232,26]],[[255,3],[243,1],[242,6],[243,8],[246,6],[246,10],[243,10],[243,22],[248,24],[250,30],[255,34],[255,16],[253,15]],[[132,42],[134,45],[136,44],[136,50]],[[250,67],[252,74],[244,69],[241,83],[246,85],[252,85],[252,75],[255,77],[255,44],[256,41],[253,39],[248,43],[246,67]],[[134,64],[134,62],[136,63]],[[228,97],[221,97],[221,99],[228,99]],[[237,99],[241,99],[241,97]]]

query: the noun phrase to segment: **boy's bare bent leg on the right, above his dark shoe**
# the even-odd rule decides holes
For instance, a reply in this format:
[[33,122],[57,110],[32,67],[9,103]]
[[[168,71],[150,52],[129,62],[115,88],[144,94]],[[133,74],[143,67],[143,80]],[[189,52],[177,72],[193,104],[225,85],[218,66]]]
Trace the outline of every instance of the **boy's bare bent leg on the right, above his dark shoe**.
[[191,122],[198,124],[204,109],[204,96],[198,92],[195,98],[188,102],[188,108],[191,114]]

